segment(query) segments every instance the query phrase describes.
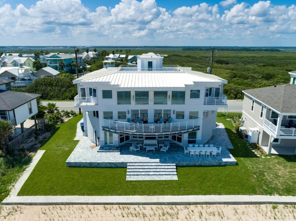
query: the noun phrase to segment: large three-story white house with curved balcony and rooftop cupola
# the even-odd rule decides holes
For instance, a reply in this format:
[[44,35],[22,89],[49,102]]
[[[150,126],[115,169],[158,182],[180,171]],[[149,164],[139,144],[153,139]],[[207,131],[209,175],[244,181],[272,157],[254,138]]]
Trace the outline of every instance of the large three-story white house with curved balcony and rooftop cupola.
[[101,146],[133,140],[204,144],[215,134],[218,107],[227,107],[226,80],[163,66],[154,53],[140,55],[138,66],[103,68],[73,83],[85,135]]

